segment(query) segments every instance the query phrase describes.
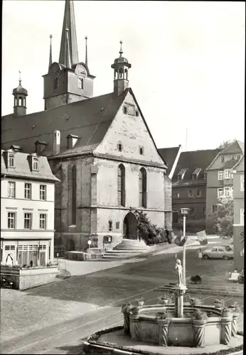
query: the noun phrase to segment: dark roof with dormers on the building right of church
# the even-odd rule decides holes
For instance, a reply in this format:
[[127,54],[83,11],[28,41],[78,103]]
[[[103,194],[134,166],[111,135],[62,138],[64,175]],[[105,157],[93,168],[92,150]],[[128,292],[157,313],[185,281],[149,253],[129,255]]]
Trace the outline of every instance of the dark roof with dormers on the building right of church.
[[[176,169],[173,174],[173,181],[178,180],[178,173],[186,170],[186,173],[183,176],[183,181],[192,180],[192,175],[196,169],[200,169],[198,179],[202,179],[202,174],[205,172],[205,169],[213,161],[216,155],[218,155],[220,149],[206,149],[204,151],[188,151],[182,152]],[[196,170],[198,172],[198,170]]]

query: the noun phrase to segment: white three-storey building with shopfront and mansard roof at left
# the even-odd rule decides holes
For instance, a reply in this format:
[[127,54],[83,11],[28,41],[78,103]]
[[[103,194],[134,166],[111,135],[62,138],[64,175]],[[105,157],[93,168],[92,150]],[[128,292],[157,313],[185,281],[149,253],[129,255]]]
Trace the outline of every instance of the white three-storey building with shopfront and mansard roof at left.
[[1,151],[1,263],[53,261],[55,178],[46,157]]

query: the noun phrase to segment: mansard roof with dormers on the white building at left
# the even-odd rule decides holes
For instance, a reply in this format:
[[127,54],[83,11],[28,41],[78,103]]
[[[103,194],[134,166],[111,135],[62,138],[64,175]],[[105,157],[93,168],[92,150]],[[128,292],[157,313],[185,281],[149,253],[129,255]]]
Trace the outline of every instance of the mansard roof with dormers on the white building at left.
[[[14,168],[7,166],[7,153],[14,153]],[[50,165],[45,156],[38,157],[38,171],[31,170],[31,155],[28,153],[21,153],[14,150],[4,151],[1,149],[1,175],[11,176],[12,178],[23,178],[31,180],[47,180],[59,181],[51,172]],[[30,157],[30,158],[29,158]]]

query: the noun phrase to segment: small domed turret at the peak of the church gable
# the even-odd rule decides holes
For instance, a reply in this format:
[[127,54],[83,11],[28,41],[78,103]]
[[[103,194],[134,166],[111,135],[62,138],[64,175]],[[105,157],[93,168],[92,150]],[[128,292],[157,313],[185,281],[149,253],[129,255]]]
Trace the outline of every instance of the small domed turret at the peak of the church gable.
[[132,67],[129,64],[127,58],[122,57],[122,40],[120,43],[119,58],[114,60],[114,64],[111,67],[114,69],[114,93],[118,96],[127,89],[128,81],[128,70]]

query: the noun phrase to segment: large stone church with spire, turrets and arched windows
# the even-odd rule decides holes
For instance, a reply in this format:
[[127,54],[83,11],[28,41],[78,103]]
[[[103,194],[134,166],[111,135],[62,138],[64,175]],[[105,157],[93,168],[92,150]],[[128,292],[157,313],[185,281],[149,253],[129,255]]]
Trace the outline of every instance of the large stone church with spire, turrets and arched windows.
[[[85,38],[87,40],[87,38]],[[13,90],[14,112],[1,119],[2,149],[45,155],[55,184],[55,244],[65,250],[112,247],[137,239],[134,212],[171,229],[171,180],[134,92],[132,65],[123,55],[111,65],[113,92],[93,96],[95,76],[77,51],[73,1],[65,1],[59,62],[43,75],[44,110],[26,114],[28,92]]]

